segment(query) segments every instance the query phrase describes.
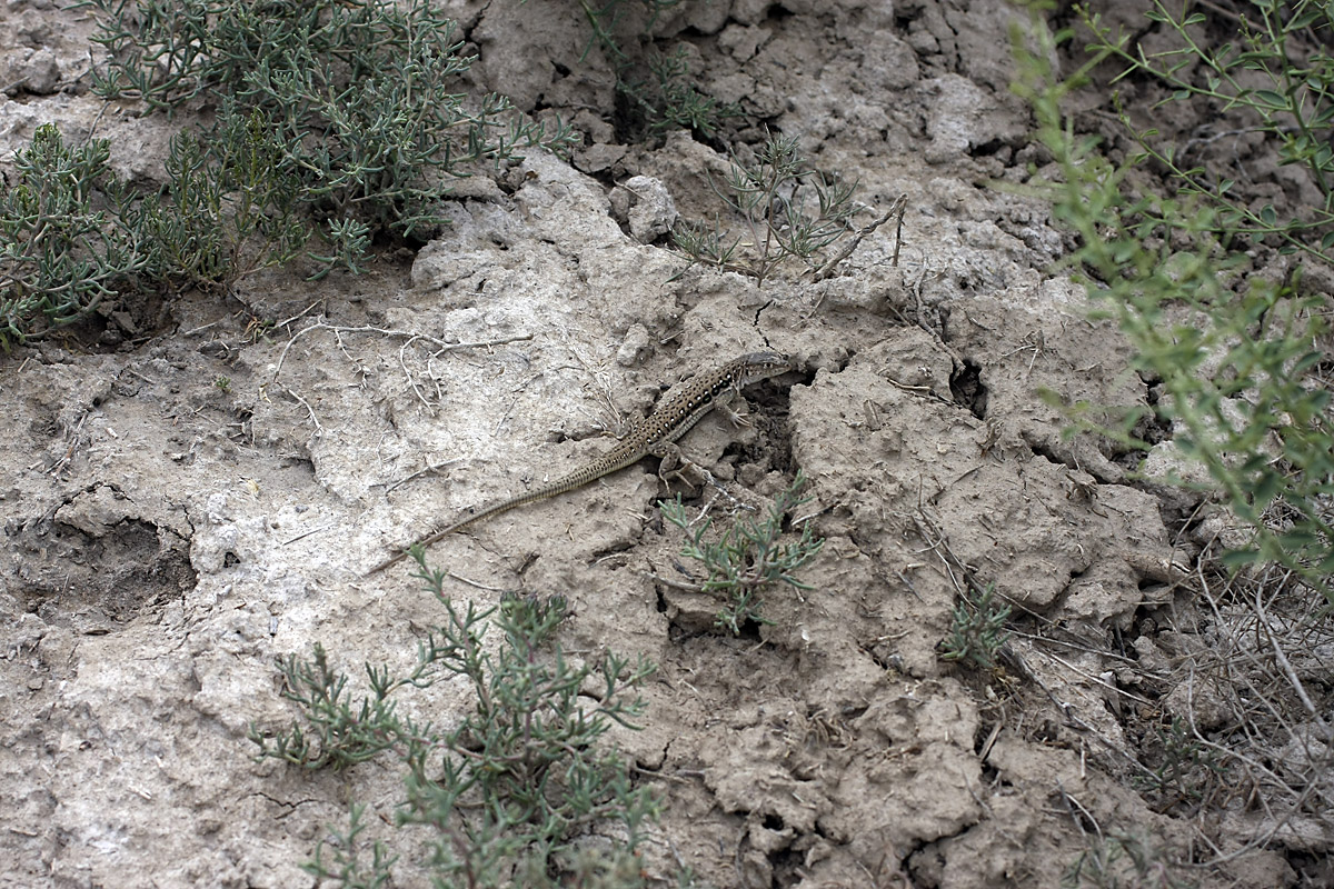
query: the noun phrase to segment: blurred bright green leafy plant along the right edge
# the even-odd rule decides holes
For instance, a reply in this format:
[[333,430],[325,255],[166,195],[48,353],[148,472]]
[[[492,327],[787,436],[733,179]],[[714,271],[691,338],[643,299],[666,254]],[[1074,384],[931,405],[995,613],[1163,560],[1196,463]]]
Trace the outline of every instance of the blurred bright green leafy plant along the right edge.
[[[1298,4],[1295,11],[1307,19],[1311,8]],[[1249,39],[1261,44],[1263,33],[1247,29]],[[1101,432],[1131,449],[1150,448],[1138,435],[1149,419],[1170,429],[1173,444],[1207,470],[1217,494],[1254,530],[1250,545],[1225,553],[1223,562],[1233,568],[1277,562],[1334,602],[1329,584],[1334,423],[1330,391],[1321,379],[1327,356],[1319,347],[1334,304],[1329,295],[1302,295],[1299,267],[1282,281],[1238,276],[1234,269],[1245,256],[1229,249],[1238,240],[1265,236],[1279,249],[1325,251],[1334,243],[1334,217],[1315,208],[1310,223],[1281,223],[1273,208],[1261,208],[1265,231],[1259,231],[1254,220],[1237,215],[1238,208],[1229,209],[1230,189],[1219,184],[1219,197],[1206,200],[1199,193],[1203,185],[1189,185],[1207,180],[1202,168],[1170,168],[1182,197],[1134,188],[1129,173],[1145,153],[1114,165],[1098,153],[1095,141],[1075,137],[1062,115],[1062,99],[1111,52],[1103,47],[1070,79],[1057,81],[1049,59],[1070,36],[1053,35],[1035,21],[1035,49],[1017,37],[1022,75],[1015,91],[1033,104],[1038,137],[1061,171],[1061,181],[1034,184],[1034,191],[1051,200],[1057,220],[1078,236],[1070,268],[1102,311],[1118,320],[1138,352],[1135,369],[1159,383],[1162,395],[1153,407],[1121,411],[1119,425],[1093,419],[1093,405],[1065,407],[1077,429]],[[1283,61],[1281,53],[1281,44],[1270,44],[1258,56],[1221,57],[1266,69]],[[1325,75],[1330,80],[1323,83],[1334,83],[1334,69],[1322,71],[1311,83],[1322,83]],[[1258,92],[1245,96],[1270,101]],[[1299,129],[1321,133],[1327,145],[1327,89],[1309,103],[1290,99],[1293,113],[1303,115]],[[1323,181],[1327,156],[1303,145],[1285,151],[1293,159],[1307,157],[1317,181]],[[1058,401],[1055,395],[1049,399]]]

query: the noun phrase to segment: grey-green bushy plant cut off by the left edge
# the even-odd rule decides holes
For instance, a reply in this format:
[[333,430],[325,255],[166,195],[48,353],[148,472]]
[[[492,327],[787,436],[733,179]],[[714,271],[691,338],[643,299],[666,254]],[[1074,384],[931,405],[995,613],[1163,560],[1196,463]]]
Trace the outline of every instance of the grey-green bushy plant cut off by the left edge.
[[15,157],[0,193],[0,345],[76,321],[156,267],[156,248],[111,172],[103,139],[64,144],[52,124]]

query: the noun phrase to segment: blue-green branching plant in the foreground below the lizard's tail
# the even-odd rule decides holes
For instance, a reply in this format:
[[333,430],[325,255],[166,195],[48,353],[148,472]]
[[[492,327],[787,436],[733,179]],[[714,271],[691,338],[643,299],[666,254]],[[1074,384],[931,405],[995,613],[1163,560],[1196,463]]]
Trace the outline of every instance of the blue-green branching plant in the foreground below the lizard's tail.
[[[320,645],[311,658],[280,658],[284,697],[303,722],[272,736],[251,728],[259,756],[307,769],[348,768],[390,756],[403,769],[404,800],[396,826],[430,832],[420,860],[402,862],[391,840],[370,840],[364,808],[354,805],[346,829],[320,842],[307,869],[348,886],[386,885],[394,868],[424,869],[438,885],[555,886],[556,874],[586,870],[632,873],[642,828],[656,817],[646,788],[635,788],[627,764],[600,745],[612,722],[634,728],[643,712],[627,700],[652,672],[612,653],[599,662],[567,660],[554,634],[567,609],[562,598],[507,598],[498,608],[456,606],[443,593],[444,574],[414,552],[420,577],[444,606],[446,622],[419,644],[416,666],[394,677],[366,665],[368,694],[328,662]],[[499,646],[483,645],[499,628]],[[407,716],[398,697],[459,678],[474,706],[448,729]],[[623,841],[590,862],[578,841],[590,828],[615,824]],[[416,834],[420,836],[420,834]],[[599,885],[599,884],[580,884]]]

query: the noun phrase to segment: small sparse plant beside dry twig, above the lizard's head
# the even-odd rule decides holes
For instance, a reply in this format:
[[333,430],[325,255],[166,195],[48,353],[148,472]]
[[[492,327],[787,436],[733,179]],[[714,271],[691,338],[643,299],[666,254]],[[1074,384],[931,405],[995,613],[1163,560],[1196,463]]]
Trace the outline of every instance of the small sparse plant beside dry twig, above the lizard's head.
[[726,191],[714,191],[739,217],[744,235],[728,237],[716,224],[683,223],[674,239],[694,263],[763,284],[787,260],[819,268],[822,251],[854,231],[856,184],[808,168],[795,136],[770,135],[752,163],[734,155],[723,185]]

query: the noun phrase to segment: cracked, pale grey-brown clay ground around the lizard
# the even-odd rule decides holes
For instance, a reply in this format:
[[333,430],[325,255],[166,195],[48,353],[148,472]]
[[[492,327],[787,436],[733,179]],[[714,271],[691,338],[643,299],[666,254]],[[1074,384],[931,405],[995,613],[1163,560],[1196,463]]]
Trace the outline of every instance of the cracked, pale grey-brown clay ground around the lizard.
[[[795,369],[748,391],[748,428],[711,416],[683,440],[722,492],[679,490],[727,522],[804,472],[799,517],[826,544],[811,590],[771,590],[771,625],[711,630],[715,602],[650,577],[682,546],[654,460],[431,550],[471,581],[458,598],[559,593],[568,649],[659,665],[643,730],[614,734],[664,804],[651,877],[1055,886],[1095,830],[1138,832],[1171,862],[1262,836],[1263,810],[1155,805],[1133,781],[1146,726],[1191,713],[1166,677],[1207,644],[1186,582],[1201,542],[1179,521],[1193,502],[1134,481],[1135,456],[1062,439],[1039,395],[1149,388],[1050,271],[1067,244],[1045,205],[994,187],[1042,163],[1007,92],[1021,13],[735,0],[658,25],[707,92],[856,179],[859,224],[907,196],[898,265],[884,225],[828,280],[790,268],[756,287],[632,233],[616,184],[650,177],[682,216],[712,217],[704,175],[726,159],[684,132],[615,141],[574,4],[443,7],[480,55],[479,91],[576,109],[570,161],[531,152],[466,183],[448,231],[364,276],[273,272],[119,319],[100,344],[3,359],[0,885],[311,885],[299,865],[325,825],[348,798],[388,817],[398,778],[256,762],[251,724],[296,717],[275,657],[317,641],[354,673],[402,668],[442,616],[402,566],[363,578],[390,546],[587,461],[663,387],[759,349]],[[83,11],[5,4],[0,80],[27,85],[0,100],[0,156],[52,121],[160,181],[181,121],[104,108],[91,31]],[[650,229],[670,219],[636,209]],[[970,578],[1015,606],[1003,674],[938,656]],[[450,686],[414,706],[447,721],[467,704]],[[1287,885],[1329,826],[1294,822],[1185,878]]]

